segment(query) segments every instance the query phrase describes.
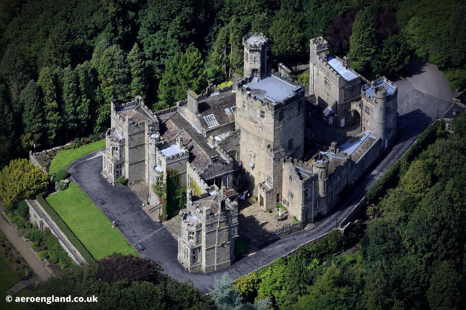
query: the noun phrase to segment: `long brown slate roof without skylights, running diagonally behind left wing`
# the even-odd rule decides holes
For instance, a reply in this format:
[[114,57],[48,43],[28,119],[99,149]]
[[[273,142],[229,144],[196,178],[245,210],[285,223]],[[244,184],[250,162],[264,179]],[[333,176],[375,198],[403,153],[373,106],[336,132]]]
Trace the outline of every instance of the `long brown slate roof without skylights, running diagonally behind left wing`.
[[[192,128],[178,112],[172,113],[170,118],[160,123],[160,135],[165,140],[171,140],[181,135],[183,144],[189,151],[189,161],[199,171],[204,170],[211,163],[212,156],[220,155],[207,144],[207,139]],[[220,156],[219,160],[222,160]]]

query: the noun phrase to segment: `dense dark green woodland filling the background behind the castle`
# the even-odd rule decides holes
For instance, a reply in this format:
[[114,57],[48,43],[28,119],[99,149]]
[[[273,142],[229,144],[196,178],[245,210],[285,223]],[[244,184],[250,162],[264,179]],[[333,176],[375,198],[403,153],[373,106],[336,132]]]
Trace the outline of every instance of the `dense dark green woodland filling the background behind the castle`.
[[[104,132],[111,99],[174,106],[242,72],[241,38],[270,39],[267,63],[308,62],[323,35],[367,78],[403,74],[410,57],[466,80],[459,0],[1,0],[0,165]],[[296,76],[296,75],[295,75]],[[305,83],[306,73],[296,76]]]

